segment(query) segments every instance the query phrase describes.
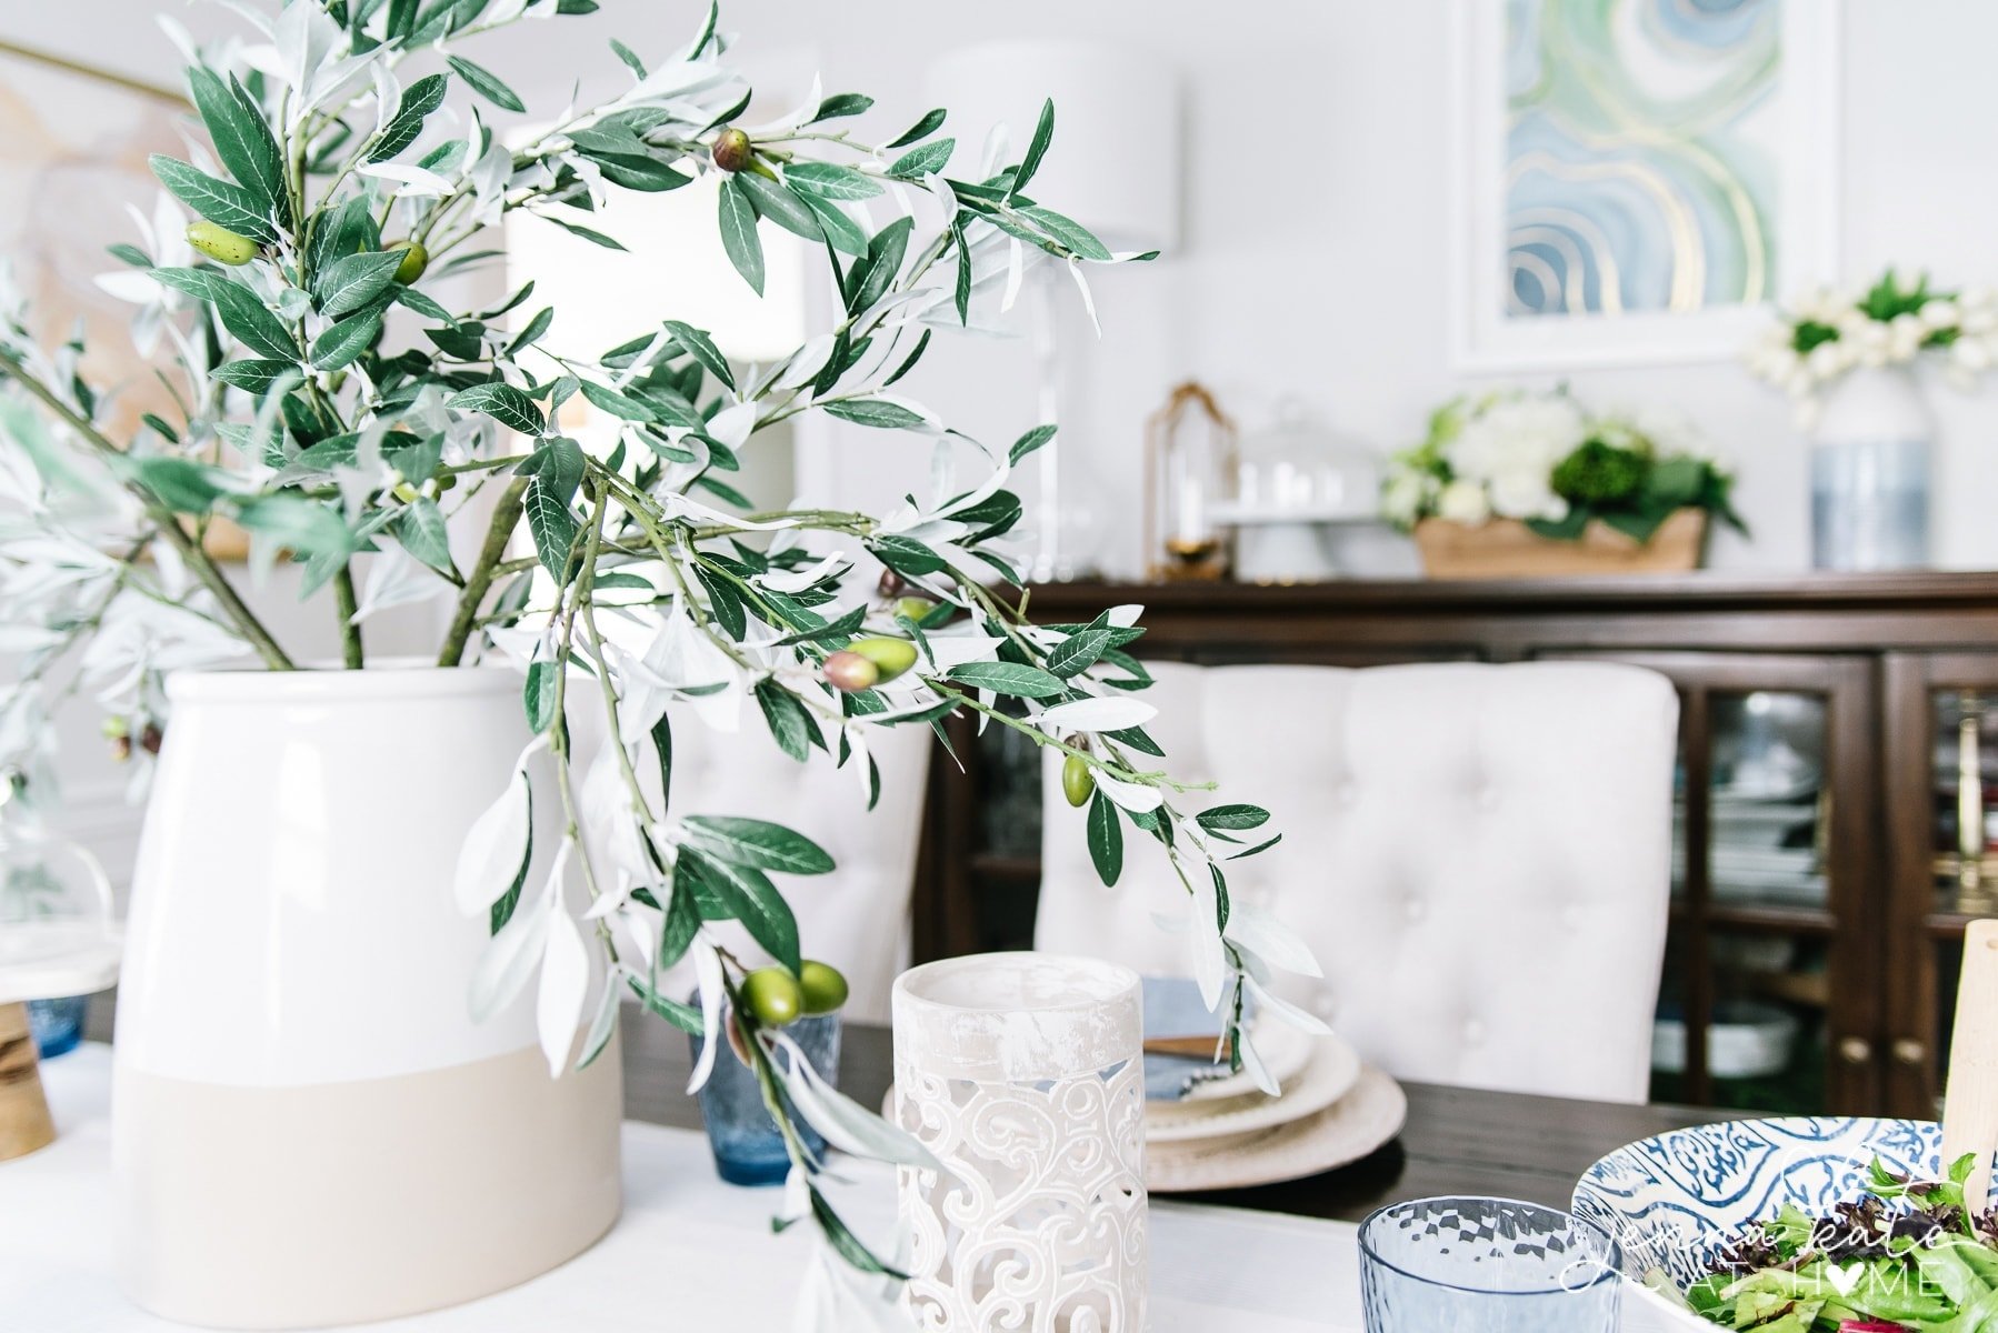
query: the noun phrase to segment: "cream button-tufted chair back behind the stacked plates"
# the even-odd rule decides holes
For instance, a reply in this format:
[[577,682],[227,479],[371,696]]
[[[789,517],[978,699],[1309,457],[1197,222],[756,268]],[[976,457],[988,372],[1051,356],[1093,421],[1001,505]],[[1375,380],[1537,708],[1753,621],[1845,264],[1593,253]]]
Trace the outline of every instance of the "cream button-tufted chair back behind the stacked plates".
[[[1658,997],[1678,699],[1610,664],[1367,669],[1157,664],[1143,695],[1175,777],[1251,801],[1283,841],[1227,867],[1311,943],[1279,993],[1393,1075],[1642,1101]],[[1117,887],[1083,811],[1043,781],[1035,945],[1189,975],[1157,845],[1127,827]],[[1143,839],[1143,841],[1139,841]]]

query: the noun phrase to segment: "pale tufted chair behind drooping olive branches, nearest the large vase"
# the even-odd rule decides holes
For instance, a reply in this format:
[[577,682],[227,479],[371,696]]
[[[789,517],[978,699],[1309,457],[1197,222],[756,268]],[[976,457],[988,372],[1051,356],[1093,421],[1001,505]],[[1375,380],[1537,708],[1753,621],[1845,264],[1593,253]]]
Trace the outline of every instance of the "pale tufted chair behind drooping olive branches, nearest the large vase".
[[[847,975],[853,987],[847,1019],[887,1023],[889,985],[909,965],[909,893],[935,743],[929,727],[867,733],[867,747],[881,765],[881,801],[869,811],[861,773],[851,763],[835,769],[823,753],[797,763],[755,717],[733,735],[713,731],[681,705],[671,719],[673,813],[775,819],[825,847],[837,865],[833,873],[777,879],[797,913],[805,955]],[[759,957],[733,921],[715,929],[731,949]],[[689,993],[691,967],[675,967],[661,989]]]

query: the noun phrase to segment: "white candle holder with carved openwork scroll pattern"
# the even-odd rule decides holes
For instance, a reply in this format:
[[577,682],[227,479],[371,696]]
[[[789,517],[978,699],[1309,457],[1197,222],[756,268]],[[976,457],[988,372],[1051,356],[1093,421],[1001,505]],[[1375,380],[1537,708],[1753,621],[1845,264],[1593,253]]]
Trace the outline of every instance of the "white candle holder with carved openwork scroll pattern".
[[901,1169],[919,1329],[1145,1329],[1137,973],[1051,953],[895,981],[895,1121],[945,1171]]

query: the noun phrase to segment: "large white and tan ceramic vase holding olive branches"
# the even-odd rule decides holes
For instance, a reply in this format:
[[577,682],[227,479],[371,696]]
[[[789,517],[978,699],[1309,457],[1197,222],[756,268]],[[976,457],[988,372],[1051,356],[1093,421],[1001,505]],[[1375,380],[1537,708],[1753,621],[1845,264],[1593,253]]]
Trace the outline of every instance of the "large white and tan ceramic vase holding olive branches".
[[519,677],[214,671],[168,697],[118,991],[130,1297],[360,1323],[587,1249],[619,1209],[617,1051],[551,1079],[533,987],[474,1023],[488,927],[452,901],[527,741]]

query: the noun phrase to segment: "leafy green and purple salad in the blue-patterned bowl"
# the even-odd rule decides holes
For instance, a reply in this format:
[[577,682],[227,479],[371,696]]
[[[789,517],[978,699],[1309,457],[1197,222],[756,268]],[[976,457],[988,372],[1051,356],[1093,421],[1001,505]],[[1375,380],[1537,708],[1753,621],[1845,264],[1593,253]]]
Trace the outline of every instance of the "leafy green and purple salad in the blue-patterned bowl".
[[1866,1195],[1752,1223],[1686,1303],[1756,1333],[1998,1333],[1998,1209],[1964,1207],[1974,1161],[1914,1181],[1874,1159]]

